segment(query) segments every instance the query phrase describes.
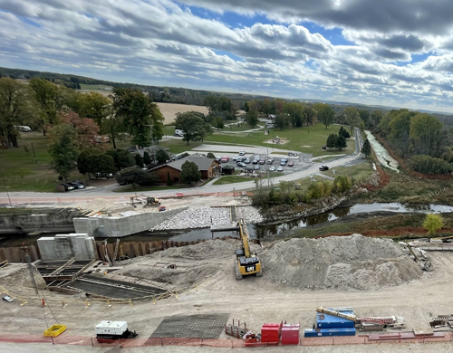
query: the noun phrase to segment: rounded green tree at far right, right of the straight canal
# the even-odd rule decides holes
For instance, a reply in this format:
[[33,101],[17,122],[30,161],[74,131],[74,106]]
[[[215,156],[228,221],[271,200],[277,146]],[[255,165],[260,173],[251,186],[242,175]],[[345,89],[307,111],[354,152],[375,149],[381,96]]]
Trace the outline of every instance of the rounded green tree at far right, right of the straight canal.
[[410,119],[410,138],[414,141],[415,153],[435,157],[442,123],[429,114],[419,113]]

